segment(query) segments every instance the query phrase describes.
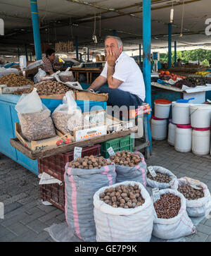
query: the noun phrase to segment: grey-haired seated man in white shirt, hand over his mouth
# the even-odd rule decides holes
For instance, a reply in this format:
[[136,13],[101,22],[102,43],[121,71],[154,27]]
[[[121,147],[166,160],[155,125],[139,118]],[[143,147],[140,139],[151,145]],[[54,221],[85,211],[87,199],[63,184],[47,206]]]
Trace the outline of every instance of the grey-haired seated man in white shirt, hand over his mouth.
[[105,41],[107,62],[101,75],[88,90],[108,93],[108,106],[141,106],[145,99],[145,85],[141,69],[134,59],[123,51],[119,37],[108,36]]

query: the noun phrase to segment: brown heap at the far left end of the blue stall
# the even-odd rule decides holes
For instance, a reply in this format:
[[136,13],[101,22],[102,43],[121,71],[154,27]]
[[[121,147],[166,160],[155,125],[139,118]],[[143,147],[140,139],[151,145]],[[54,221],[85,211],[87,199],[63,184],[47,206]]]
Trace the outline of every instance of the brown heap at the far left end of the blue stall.
[[23,75],[8,74],[0,78],[0,85],[7,85],[7,87],[20,87],[25,85],[34,85],[34,82],[28,80]]

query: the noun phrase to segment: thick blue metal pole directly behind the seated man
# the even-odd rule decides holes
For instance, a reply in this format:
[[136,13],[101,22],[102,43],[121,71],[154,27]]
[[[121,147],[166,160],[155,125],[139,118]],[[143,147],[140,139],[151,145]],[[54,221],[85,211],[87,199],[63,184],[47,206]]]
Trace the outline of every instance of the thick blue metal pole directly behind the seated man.
[[[151,104],[151,0],[143,0],[143,79],[146,87],[145,102]],[[148,139],[150,152],[152,151],[152,138],[150,128],[151,114],[147,115]]]

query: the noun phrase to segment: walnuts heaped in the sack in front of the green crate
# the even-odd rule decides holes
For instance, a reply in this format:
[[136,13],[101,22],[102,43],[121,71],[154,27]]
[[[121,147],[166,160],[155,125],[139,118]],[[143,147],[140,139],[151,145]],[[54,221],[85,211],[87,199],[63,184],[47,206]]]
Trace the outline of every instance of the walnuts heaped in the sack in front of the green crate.
[[114,156],[110,157],[110,160],[117,165],[133,167],[141,162],[141,157],[139,157],[139,154],[123,150],[122,152],[118,152]]

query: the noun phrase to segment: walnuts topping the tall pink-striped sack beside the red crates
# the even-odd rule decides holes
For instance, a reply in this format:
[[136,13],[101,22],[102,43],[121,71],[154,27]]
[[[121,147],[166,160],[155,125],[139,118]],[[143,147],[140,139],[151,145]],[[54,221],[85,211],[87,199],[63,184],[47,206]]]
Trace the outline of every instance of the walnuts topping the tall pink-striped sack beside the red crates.
[[110,161],[107,161],[104,157],[95,157],[91,155],[90,157],[79,157],[76,160],[71,161],[69,167],[79,169],[100,169],[102,166],[110,164]]

